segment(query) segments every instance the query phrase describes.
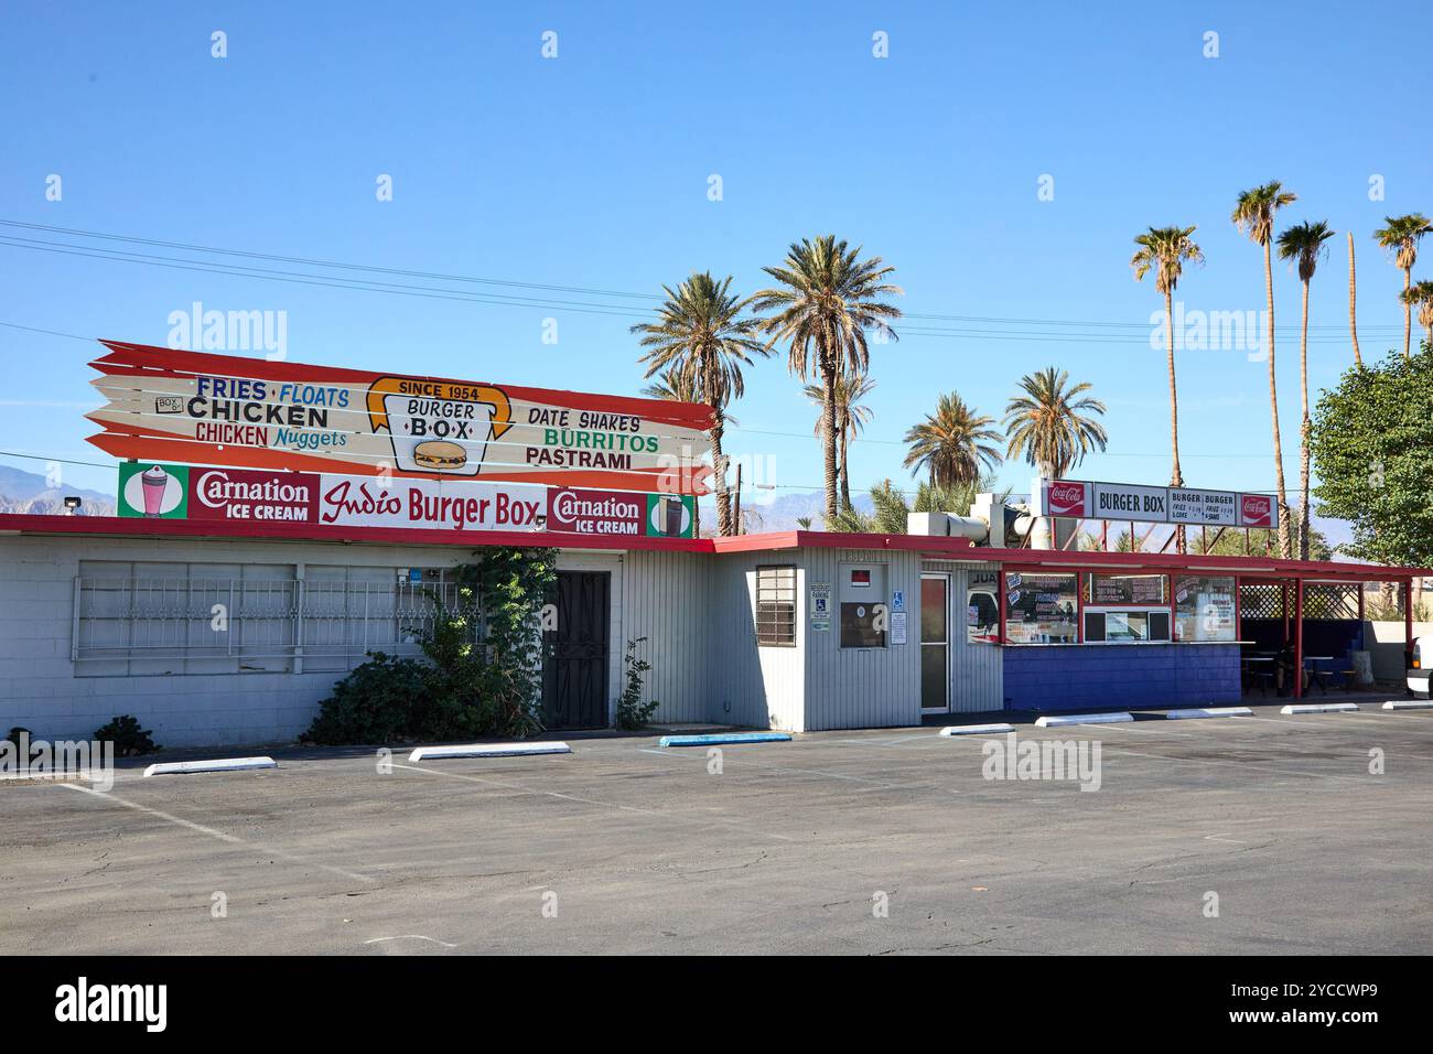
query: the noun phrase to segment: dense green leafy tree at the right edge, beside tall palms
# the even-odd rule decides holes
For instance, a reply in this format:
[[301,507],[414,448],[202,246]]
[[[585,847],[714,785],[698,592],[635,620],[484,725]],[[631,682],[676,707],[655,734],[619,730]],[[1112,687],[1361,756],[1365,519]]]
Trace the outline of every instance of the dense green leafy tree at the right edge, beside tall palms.
[[1353,525],[1343,552],[1433,566],[1433,354],[1350,370],[1314,410],[1318,513]]

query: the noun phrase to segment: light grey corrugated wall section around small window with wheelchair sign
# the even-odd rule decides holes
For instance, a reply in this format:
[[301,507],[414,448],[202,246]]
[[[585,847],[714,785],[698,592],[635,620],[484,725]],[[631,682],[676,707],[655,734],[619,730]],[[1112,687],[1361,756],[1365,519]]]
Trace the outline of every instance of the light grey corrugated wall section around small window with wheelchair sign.
[[[888,728],[920,724],[920,554],[887,549],[804,549],[802,604],[807,631],[805,728]],[[843,564],[886,565],[887,592],[904,589],[906,644],[841,648],[837,604]],[[810,632],[804,605],[815,582],[831,584],[831,630]],[[890,597],[883,598],[890,602]]]

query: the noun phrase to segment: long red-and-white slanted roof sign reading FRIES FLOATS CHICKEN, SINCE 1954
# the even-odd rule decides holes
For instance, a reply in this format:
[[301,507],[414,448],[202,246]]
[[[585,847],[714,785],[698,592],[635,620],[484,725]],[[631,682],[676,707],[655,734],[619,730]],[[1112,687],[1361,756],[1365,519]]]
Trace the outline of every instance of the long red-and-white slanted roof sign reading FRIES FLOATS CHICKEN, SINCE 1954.
[[711,407],[100,341],[116,457],[706,493]]

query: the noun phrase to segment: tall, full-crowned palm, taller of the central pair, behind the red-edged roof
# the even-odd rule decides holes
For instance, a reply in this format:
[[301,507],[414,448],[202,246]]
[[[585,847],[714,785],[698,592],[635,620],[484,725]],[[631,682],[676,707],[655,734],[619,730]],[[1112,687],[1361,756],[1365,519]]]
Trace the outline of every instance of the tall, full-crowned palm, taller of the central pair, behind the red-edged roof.
[[900,295],[900,287],[886,281],[896,268],[883,267],[880,257],[860,260],[861,250],[827,234],[792,242],[781,267],[762,268],[780,283],[751,298],[754,311],[772,311],[759,326],[771,334],[768,347],[790,343],[787,364],[801,377],[821,380],[825,404],[821,437],[825,445],[825,516],[835,519],[835,389],[841,373],[866,374],[870,350],[866,331],[876,330],[894,340],[888,320],[900,310],[881,301]]

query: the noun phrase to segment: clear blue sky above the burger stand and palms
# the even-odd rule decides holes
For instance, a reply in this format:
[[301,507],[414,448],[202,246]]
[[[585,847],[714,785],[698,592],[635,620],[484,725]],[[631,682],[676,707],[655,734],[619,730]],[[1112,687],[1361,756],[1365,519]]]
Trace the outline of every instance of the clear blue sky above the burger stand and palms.
[[[456,303],[0,244],[0,323],[163,344],[169,313],[192,301],[282,310],[298,361],[635,393],[628,326],[651,301],[616,294],[694,268],[754,291],[788,242],[831,231],[897,268],[904,311],[1012,320],[910,320],[874,347],[858,485],[910,485],[898,440],[937,391],[999,416],[1020,374],[1049,364],[1109,404],[1109,452],[1078,475],[1164,483],[1159,298],[1128,267],[1145,227],[1198,225],[1208,265],[1181,283],[1188,308],[1262,308],[1260,252],[1228,215],[1240,189],[1281,179],[1300,196],[1283,222],[1338,231],[1314,280],[1314,397],[1351,361],[1344,231],[1364,356],[1401,341],[1401,274],[1370,234],[1433,209],[1433,146],[1409,116],[1433,14],[1340,7],[10,1],[0,219],[606,293],[467,285],[569,303]],[[211,56],[215,30],[226,59]],[[542,57],[546,30],[556,59]],[[1390,40],[1410,42],[1394,63]],[[52,174],[60,201],[46,199]],[[375,199],[380,174],[391,202]],[[1042,175],[1053,201],[1037,199]],[[96,244],[0,227],[10,237]],[[1275,268],[1294,488],[1298,283]],[[542,341],[549,317],[556,346]],[[0,450],[112,463],[83,442],[95,350],[0,326]],[[1265,366],[1191,350],[1178,369],[1187,483],[1270,489]],[[781,359],[749,374],[734,413],[728,450],[770,459],[767,493],[818,488],[815,410]],[[112,469],[64,472],[113,489]],[[1007,466],[1002,482],[1023,490],[1029,476]]]

